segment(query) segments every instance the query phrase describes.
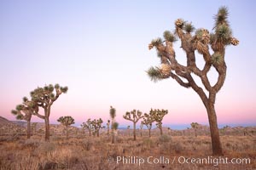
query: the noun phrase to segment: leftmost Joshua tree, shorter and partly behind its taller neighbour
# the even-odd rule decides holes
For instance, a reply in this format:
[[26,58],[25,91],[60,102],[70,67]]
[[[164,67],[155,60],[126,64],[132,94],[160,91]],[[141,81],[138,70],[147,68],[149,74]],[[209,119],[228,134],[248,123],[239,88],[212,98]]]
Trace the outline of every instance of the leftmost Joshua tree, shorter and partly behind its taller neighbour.
[[23,98],[23,105],[17,105],[16,110],[11,111],[18,120],[26,121],[26,136],[27,139],[31,137],[31,118],[35,112],[38,112],[38,105],[29,101],[26,97]]

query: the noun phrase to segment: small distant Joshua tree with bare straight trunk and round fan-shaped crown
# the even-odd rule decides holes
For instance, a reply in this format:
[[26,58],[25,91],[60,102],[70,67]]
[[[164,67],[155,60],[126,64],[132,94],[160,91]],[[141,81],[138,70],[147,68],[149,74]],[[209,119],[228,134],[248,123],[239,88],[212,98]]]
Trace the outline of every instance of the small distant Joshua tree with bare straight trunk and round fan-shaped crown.
[[133,122],[133,139],[136,140],[136,123],[143,118],[143,113],[141,111],[133,110],[131,112],[126,112],[123,116],[126,120]]

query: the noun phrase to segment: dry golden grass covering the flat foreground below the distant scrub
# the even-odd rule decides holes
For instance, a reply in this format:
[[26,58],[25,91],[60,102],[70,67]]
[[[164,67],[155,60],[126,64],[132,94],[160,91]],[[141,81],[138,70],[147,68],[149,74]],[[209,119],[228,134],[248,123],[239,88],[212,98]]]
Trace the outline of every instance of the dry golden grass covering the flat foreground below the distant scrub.
[[[1,137],[3,138],[3,137]],[[119,136],[117,144],[111,144],[107,135],[89,137],[73,135],[51,136],[44,142],[42,136],[26,139],[22,136],[14,141],[0,142],[0,169],[256,169],[255,136],[222,136],[224,156],[228,158],[251,159],[250,164],[222,164],[218,167],[204,164],[181,164],[147,162],[140,166],[135,163],[117,163],[118,156],[140,156],[147,158],[164,156],[170,160],[174,157],[203,158],[211,156],[211,139],[209,136],[168,136],[154,135],[137,137],[133,141],[129,136]]]

